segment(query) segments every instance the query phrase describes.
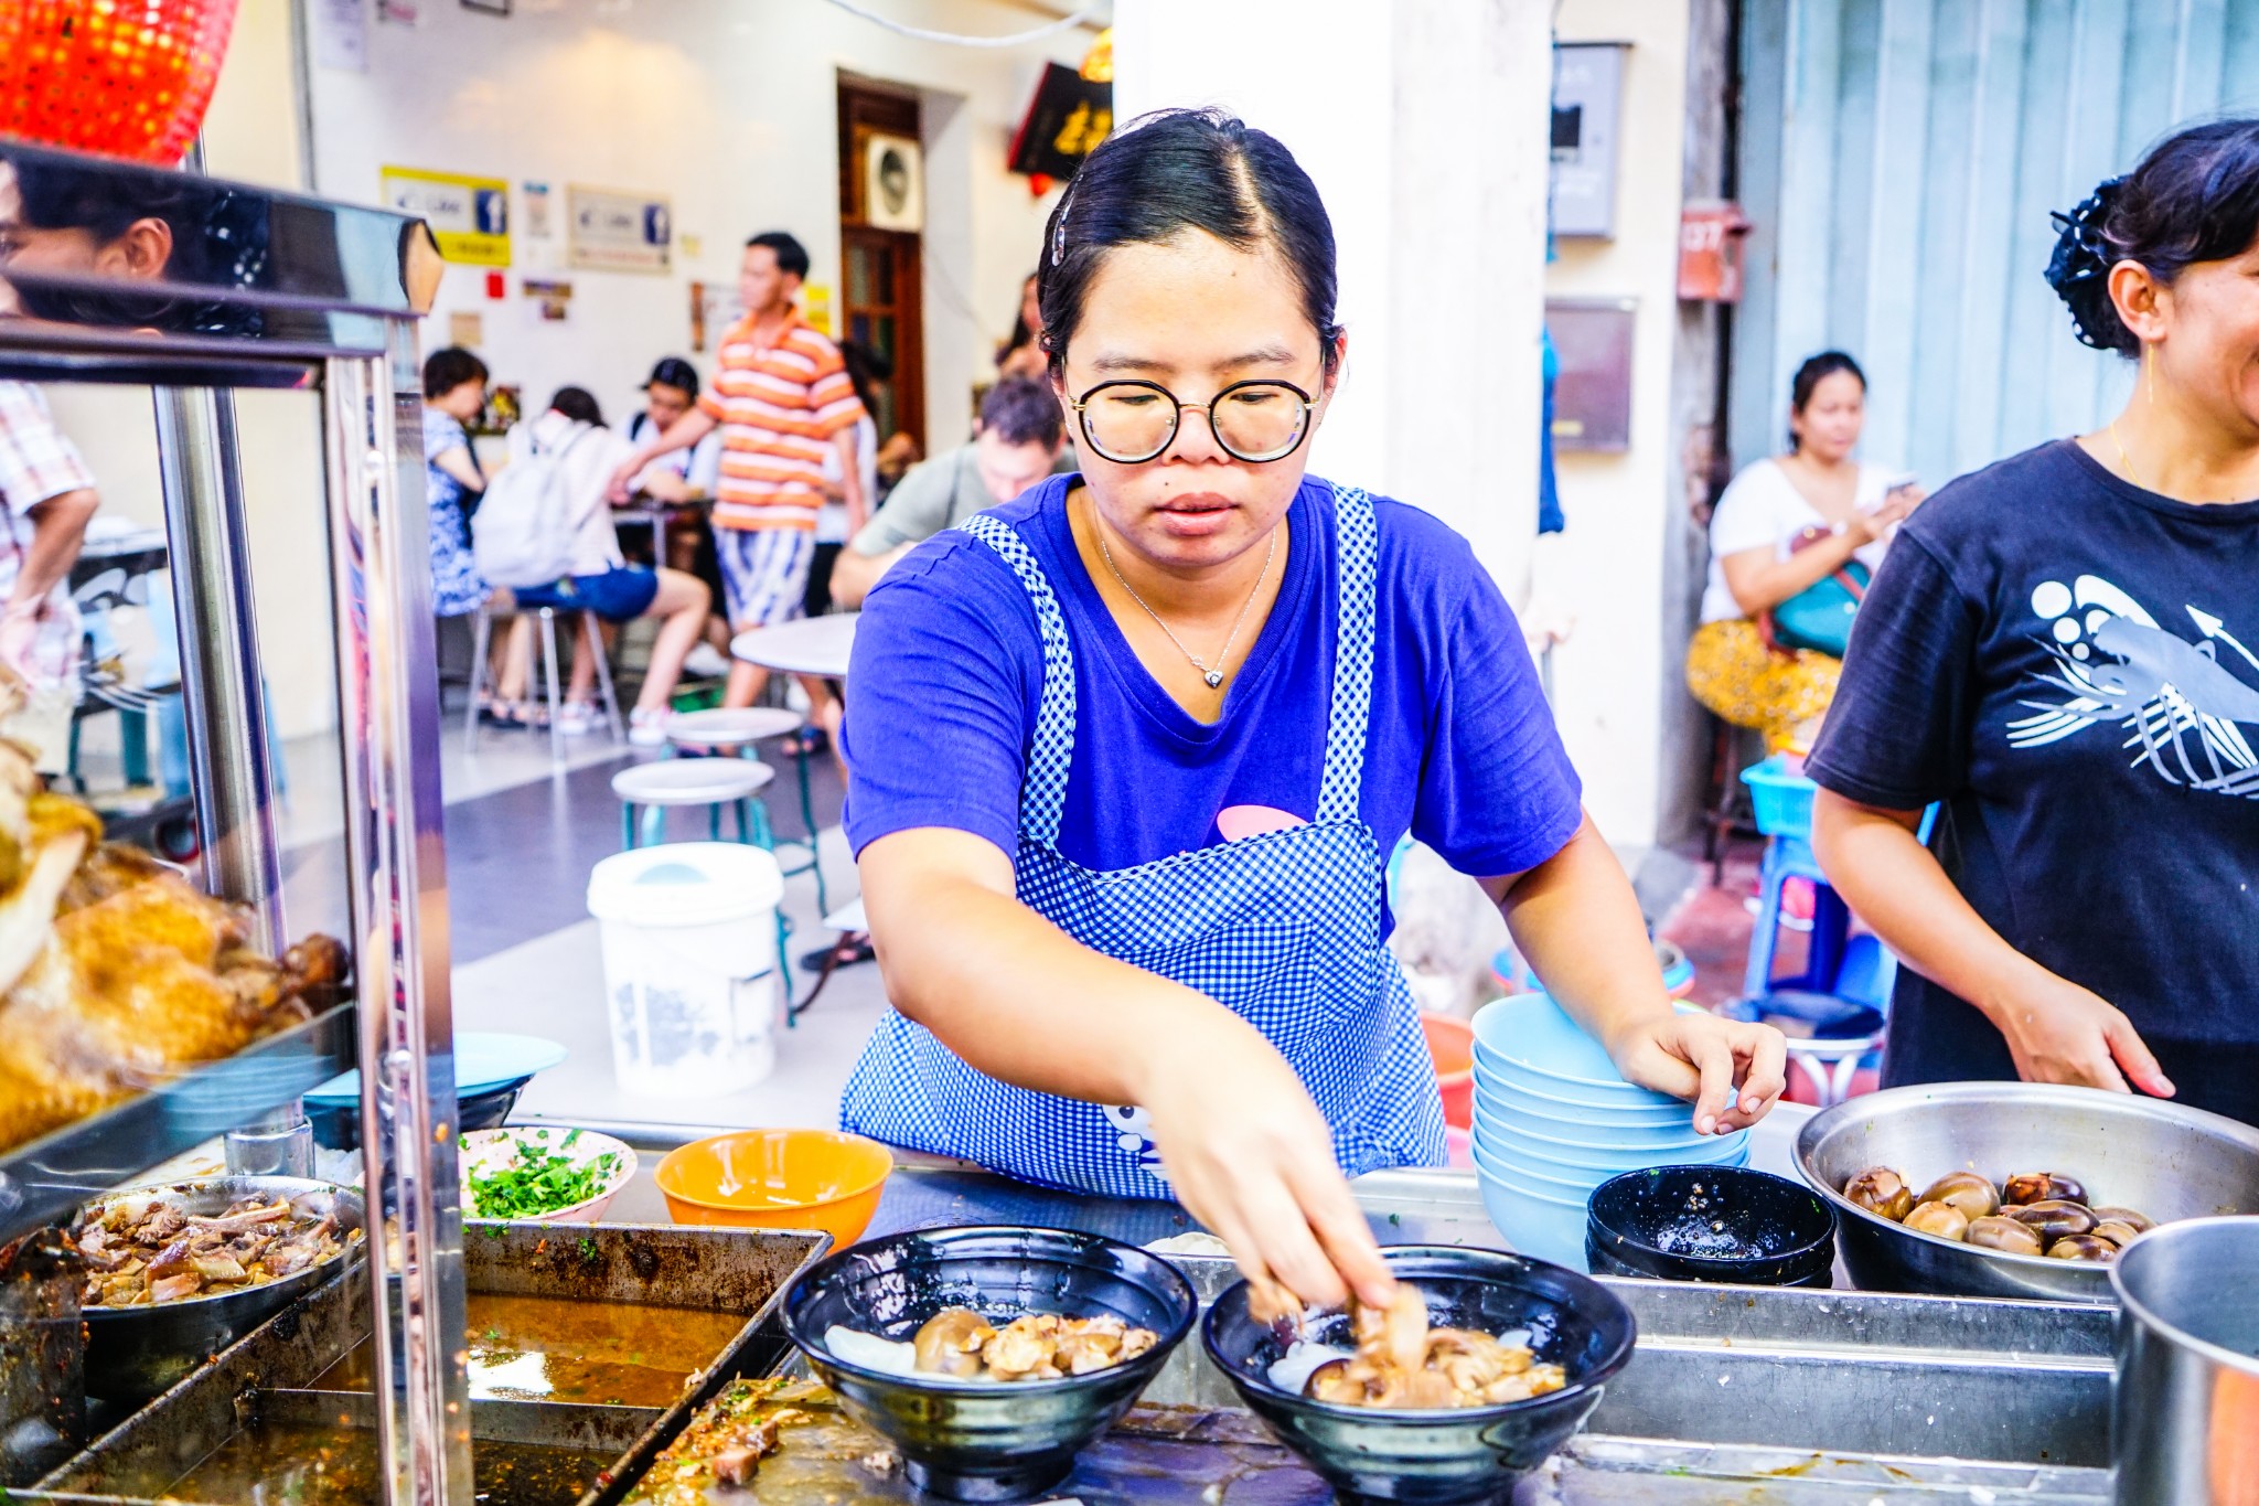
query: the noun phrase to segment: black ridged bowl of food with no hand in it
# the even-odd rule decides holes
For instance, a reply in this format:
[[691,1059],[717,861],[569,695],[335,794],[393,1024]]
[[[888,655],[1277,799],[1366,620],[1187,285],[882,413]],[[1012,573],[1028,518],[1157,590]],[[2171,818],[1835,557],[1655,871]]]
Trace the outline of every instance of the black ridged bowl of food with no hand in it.
[[[994,1323],[1023,1312],[1114,1314],[1161,1341],[1127,1364],[1069,1380],[917,1382],[834,1357],[834,1323],[910,1339],[935,1312]],[[1017,1501],[1057,1486],[1114,1427],[1193,1330],[1197,1298],[1177,1267],[1132,1244],[1064,1228],[924,1228],[867,1240],[811,1267],[784,1296],[784,1332],[865,1427],[901,1450],[922,1490]]]

